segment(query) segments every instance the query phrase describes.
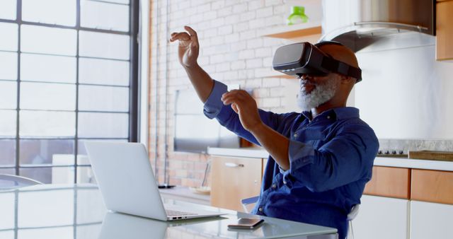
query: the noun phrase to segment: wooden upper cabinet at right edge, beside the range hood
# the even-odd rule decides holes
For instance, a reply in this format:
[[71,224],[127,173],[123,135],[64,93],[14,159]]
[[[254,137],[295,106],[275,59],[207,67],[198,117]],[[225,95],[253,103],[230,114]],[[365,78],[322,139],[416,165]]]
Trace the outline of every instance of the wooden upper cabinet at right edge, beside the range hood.
[[436,59],[453,60],[453,1],[437,1]]

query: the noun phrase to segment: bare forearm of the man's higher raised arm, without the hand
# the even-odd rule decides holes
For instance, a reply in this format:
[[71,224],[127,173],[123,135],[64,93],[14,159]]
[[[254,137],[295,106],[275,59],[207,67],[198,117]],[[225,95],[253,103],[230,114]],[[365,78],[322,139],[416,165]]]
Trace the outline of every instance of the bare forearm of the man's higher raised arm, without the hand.
[[197,91],[198,97],[202,103],[205,103],[214,87],[214,81],[212,81],[211,76],[198,64],[192,67],[184,67],[184,69],[185,72],[187,72],[195,91]]

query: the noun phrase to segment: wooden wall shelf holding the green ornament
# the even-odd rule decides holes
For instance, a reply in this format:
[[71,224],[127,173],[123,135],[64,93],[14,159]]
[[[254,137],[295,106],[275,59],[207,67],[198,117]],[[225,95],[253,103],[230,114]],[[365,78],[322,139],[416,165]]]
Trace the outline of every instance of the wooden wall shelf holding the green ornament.
[[274,37],[282,39],[297,39],[311,35],[321,35],[321,22],[301,23],[297,25],[284,25],[264,29],[261,37]]

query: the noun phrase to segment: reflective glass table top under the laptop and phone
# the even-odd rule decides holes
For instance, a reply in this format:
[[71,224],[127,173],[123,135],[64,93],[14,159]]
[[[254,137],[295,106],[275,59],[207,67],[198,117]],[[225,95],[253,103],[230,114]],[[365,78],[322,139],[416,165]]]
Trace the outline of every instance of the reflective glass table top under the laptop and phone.
[[[35,185],[0,191],[1,239],[336,238],[336,229],[164,199],[166,204],[219,211],[223,216],[158,221],[105,209],[96,185]],[[241,217],[261,217],[255,230],[229,229]]]

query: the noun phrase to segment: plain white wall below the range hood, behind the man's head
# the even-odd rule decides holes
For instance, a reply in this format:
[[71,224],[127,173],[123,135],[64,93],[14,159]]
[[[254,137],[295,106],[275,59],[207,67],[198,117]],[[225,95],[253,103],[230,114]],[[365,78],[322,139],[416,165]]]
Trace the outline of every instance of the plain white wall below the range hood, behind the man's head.
[[355,106],[379,139],[453,139],[453,63],[435,37],[403,33],[357,52]]

